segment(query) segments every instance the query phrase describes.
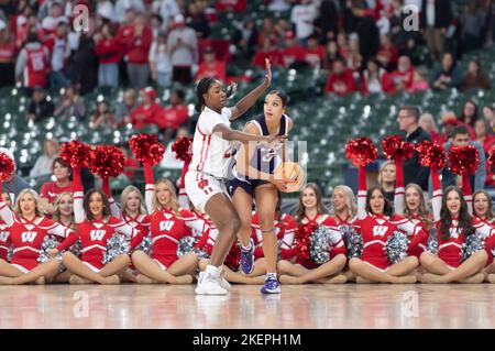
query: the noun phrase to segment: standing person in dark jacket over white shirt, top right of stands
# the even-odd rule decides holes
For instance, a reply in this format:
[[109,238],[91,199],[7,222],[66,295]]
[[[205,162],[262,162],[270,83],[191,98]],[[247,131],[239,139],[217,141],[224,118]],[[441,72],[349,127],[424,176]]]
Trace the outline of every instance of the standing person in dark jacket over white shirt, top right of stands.
[[428,48],[437,61],[446,52],[446,36],[453,19],[450,0],[422,0],[420,23]]

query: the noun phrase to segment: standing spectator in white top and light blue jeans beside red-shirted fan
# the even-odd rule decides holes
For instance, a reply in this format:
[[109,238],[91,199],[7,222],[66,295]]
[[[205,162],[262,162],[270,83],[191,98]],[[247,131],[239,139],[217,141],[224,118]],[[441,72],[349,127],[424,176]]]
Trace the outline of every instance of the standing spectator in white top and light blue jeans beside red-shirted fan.
[[152,80],[160,87],[168,88],[172,84],[172,62],[165,33],[160,33],[153,42],[148,61]]

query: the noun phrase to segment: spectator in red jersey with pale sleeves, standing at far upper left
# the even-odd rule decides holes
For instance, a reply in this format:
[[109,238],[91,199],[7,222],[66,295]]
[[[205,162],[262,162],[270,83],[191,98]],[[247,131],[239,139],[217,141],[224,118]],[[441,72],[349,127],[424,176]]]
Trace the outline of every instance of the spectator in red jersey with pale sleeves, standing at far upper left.
[[22,80],[22,85],[28,89],[36,86],[45,88],[48,73],[50,52],[40,42],[37,34],[30,32],[15,63],[16,80]]

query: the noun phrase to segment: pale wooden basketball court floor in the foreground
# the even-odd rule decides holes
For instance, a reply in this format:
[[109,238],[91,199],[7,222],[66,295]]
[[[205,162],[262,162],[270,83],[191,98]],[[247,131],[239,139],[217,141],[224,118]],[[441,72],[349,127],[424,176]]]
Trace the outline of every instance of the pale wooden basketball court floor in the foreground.
[[1,286],[6,328],[495,328],[495,285]]

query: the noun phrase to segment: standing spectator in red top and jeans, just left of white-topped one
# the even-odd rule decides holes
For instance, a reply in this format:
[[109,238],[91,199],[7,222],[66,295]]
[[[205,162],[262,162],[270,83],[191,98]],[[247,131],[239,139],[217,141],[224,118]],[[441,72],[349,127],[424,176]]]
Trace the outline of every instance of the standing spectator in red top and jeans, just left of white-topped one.
[[144,15],[138,15],[127,46],[129,83],[134,89],[144,88],[150,78],[148,52],[153,33]]

